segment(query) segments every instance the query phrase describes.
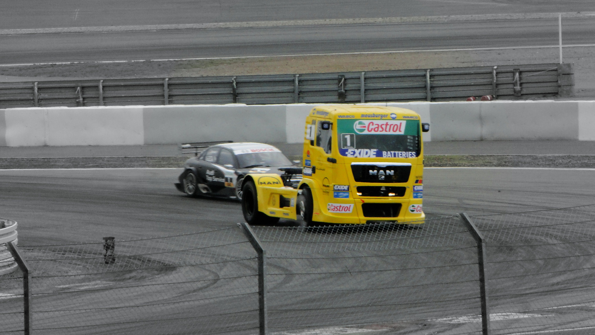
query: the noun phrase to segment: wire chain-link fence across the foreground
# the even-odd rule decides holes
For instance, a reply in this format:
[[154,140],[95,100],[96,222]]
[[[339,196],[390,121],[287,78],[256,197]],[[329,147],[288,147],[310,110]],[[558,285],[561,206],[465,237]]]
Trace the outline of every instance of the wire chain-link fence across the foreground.
[[[484,296],[461,216],[21,246],[31,333],[481,334],[484,311],[491,334],[595,331],[595,205],[471,221]],[[26,333],[22,276],[0,275],[0,333]]]

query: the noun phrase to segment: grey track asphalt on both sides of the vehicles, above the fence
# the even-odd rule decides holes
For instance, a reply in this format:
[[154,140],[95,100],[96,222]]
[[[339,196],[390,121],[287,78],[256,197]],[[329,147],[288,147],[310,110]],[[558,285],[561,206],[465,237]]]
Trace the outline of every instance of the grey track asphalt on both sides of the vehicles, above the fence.
[[[240,204],[189,198],[180,169],[0,170],[0,216],[18,222],[21,244],[154,237],[243,222]],[[511,213],[595,203],[595,170],[427,168],[424,210]]]

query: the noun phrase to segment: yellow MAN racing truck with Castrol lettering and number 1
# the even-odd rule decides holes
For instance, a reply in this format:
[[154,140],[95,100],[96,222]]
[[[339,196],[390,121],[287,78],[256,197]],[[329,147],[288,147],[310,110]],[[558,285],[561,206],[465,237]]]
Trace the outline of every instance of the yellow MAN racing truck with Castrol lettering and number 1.
[[302,226],[422,223],[421,134],[429,130],[405,108],[315,107],[304,126],[303,167],[246,175],[244,218],[262,225],[280,218]]

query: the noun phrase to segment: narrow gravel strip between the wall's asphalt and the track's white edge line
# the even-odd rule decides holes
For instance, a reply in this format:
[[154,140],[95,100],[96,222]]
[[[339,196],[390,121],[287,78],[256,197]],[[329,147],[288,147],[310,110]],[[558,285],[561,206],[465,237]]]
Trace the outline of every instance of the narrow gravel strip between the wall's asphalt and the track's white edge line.
[[[292,160],[301,156],[290,155]],[[0,169],[182,168],[183,156],[7,157]],[[518,168],[595,168],[595,155],[426,155],[426,167],[508,166]]]

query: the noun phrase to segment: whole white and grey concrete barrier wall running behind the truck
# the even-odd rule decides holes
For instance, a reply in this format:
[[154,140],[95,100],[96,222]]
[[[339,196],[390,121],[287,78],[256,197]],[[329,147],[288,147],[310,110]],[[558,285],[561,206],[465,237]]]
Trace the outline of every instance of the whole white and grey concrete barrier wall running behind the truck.
[[[50,107],[0,110],[0,146],[303,141],[314,106]],[[595,140],[595,101],[371,103],[409,108],[431,124],[424,141]]]

